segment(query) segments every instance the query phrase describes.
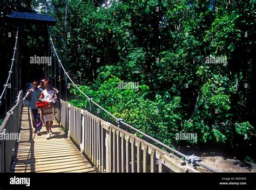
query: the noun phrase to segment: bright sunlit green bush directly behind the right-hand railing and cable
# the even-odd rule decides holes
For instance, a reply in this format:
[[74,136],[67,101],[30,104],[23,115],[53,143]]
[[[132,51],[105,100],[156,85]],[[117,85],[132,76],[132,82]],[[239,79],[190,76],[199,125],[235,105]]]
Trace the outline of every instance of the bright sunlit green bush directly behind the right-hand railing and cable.
[[[114,116],[123,118],[137,129],[170,146],[176,143],[174,136],[181,123],[180,97],[170,98],[166,92],[164,96],[156,95],[154,101],[151,101],[145,98],[149,93],[149,87],[146,85],[140,85],[136,92],[134,89],[119,89],[118,82],[121,80],[114,76],[104,81],[97,91],[87,86],[79,86],[79,89],[93,97],[94,101],[100,103]],[[75,93],[75,89],[71,92]],[[81,99],[71,100],[70,103],[80,108],[90,109],[89,102],[84,99],[84,96],[77,95]],[[103,117],[107,117],[102,110],[100,111]]]

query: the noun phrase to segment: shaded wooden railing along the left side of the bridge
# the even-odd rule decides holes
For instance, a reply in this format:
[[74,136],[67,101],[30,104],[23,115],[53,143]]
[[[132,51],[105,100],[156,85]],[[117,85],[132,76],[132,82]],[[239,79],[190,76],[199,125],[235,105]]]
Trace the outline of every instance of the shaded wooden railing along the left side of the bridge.
[[14,137],[14,134],[18,133],[22,111],[22,97],[23,93],[21,90],[17,96],[16,104],[6,113],[6,117],[0,126],[0,172],[9,172],[11,167],[16,140],[11,140],[6,136],[8,133]]

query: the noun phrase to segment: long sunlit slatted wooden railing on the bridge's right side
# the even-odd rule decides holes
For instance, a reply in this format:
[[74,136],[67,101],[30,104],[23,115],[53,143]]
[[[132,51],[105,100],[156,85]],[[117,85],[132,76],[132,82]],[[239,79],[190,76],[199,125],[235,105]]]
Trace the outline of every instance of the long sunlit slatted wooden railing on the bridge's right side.
[[198,172],[174,154],[65,101],[57,119],[100,172]]

